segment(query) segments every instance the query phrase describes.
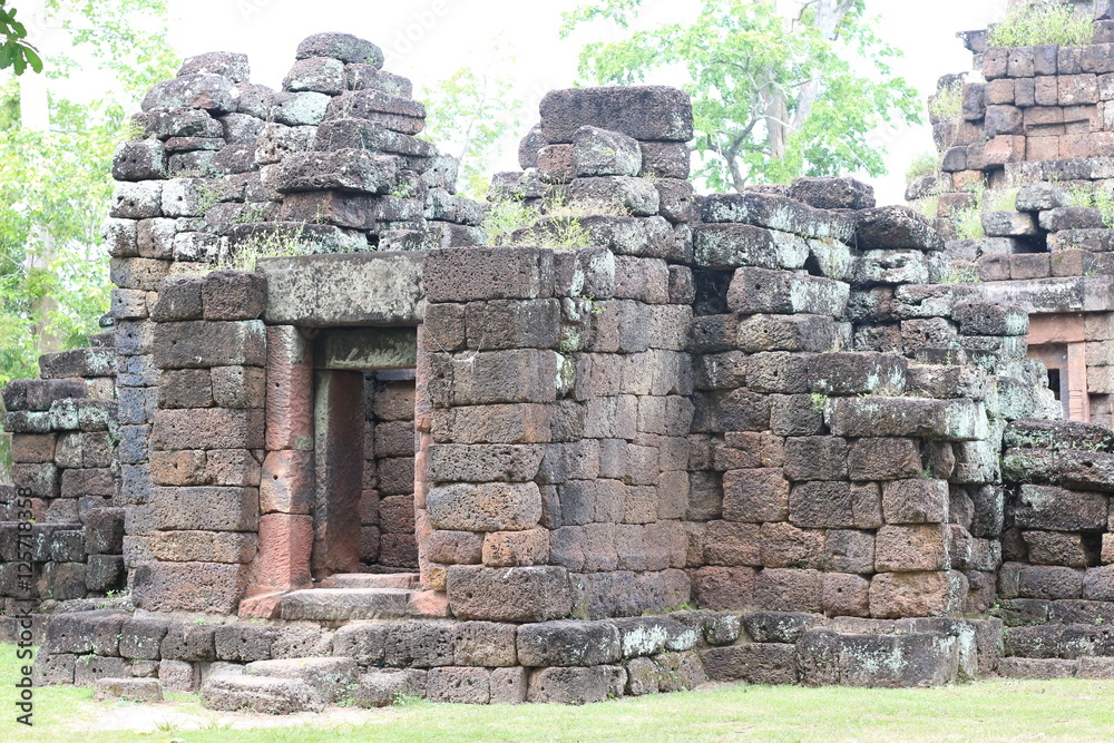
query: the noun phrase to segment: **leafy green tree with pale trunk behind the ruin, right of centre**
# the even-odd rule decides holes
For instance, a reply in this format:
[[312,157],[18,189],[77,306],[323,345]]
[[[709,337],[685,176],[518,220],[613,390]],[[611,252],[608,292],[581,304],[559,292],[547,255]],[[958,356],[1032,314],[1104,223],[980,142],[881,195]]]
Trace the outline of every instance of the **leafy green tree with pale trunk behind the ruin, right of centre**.
[[[600,0],[565,16],[629,30],[642,0]],[[791,7],[790,7],[791,6]],[[920,121],[919,96],[891,77],[900,51],[876,33],[866,0],[703,0],[695,20],[587,43],[582,78],[635,84],[682,75],[693,97],[698,176],[712,188],[799,175],[886,173],[871,134]]]

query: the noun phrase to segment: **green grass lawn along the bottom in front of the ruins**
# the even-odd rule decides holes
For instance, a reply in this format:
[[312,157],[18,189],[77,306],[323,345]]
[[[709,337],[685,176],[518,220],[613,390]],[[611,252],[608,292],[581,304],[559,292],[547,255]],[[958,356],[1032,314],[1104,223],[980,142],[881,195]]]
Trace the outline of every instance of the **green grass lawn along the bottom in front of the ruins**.
[[1084,741],[1114,736],[1114,682],[980,682],[929,690],[745,685],[583,707],[424,702],[330,707],[272,717],[204,710],[194,695],[158,705],[94,702],[89,690],[36,690],[35,726],[14,722],[17,663],[0,646],[0,741]]

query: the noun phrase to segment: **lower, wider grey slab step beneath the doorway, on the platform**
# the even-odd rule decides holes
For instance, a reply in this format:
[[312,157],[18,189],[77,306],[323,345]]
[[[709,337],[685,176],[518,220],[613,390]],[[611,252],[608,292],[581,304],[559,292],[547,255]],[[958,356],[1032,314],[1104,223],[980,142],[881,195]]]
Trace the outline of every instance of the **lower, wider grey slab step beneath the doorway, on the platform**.
[[448,616],[443,595],[402,588],[310,588],[282,597],[283,619],[346,622]]

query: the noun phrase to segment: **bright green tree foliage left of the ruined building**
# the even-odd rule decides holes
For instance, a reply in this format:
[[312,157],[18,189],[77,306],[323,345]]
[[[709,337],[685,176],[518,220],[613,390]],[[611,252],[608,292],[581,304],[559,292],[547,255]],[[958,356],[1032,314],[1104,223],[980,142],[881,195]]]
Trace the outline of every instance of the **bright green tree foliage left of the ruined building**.
[[[51,95],[50,128],[38,131],[21,126],[19,86],[0,87],[0,384],[36,375],[38,353],[99,332],[110,291],[99,243],[113,153],[138,95],[177,65],[165,0],[49,0],[47,9],[74,29],[69,53],[48,55],[48,77],[99,65],[114,89],[88,102]],[[146,19],[163,30],[136,30]]]

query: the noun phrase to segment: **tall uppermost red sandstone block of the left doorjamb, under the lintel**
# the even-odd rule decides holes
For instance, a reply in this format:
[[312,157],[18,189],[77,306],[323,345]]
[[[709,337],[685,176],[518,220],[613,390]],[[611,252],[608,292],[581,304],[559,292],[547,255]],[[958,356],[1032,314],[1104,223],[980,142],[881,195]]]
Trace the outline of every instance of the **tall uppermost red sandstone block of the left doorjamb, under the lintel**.
[[266,448],[313,449],[313,362],[291,325],[267,327]]

